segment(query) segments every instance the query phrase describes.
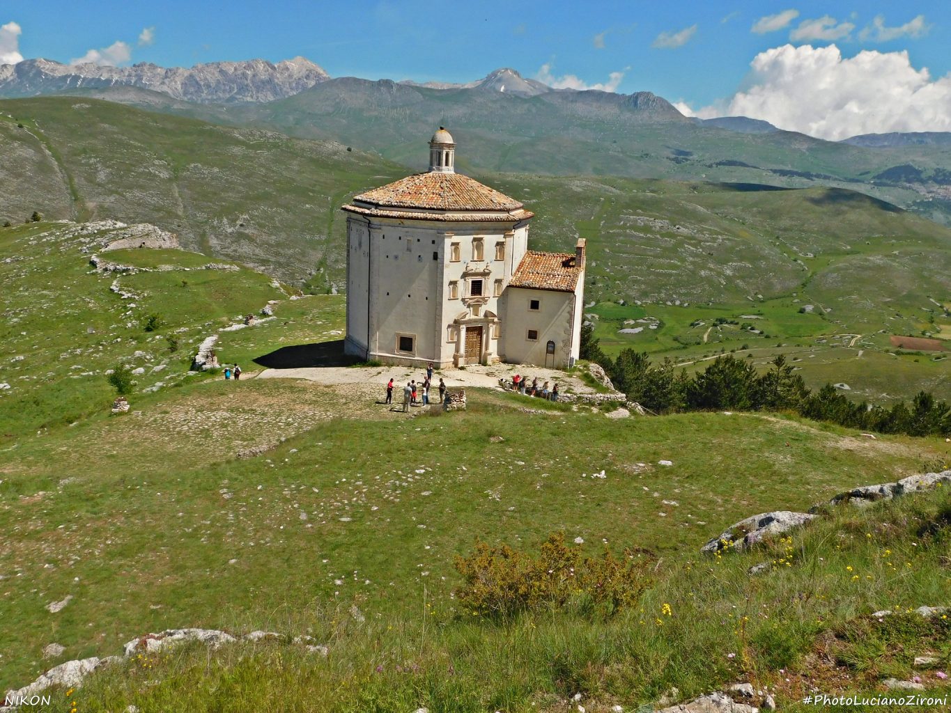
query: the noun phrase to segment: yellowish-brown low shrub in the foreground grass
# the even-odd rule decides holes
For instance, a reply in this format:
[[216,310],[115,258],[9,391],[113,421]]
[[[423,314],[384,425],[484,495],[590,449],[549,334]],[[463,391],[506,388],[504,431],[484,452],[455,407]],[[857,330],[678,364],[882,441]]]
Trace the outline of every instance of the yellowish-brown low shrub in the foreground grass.
[[580,547],[566,544],[564,532],[549,535],[537,555],[476,540],[472,555],[456,556],[464,580],[456,600],[466,612],[493,617],[582,600],[611,614],[632,605],[648,587],[650,560],[628,549],[623,558],[607,549],[600,557],[585,557]]

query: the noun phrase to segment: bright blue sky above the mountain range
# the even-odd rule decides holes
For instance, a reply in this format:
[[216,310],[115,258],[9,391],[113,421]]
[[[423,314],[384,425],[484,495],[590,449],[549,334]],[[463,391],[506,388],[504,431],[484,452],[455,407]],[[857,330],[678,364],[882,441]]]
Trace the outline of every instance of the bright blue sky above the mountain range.
[[[760,29],[778,29],[752,31],[767,16],[776,17]],[[834,44],[843,60],[861,50],[906,51],[909,67],[927,67],[933,80],[951,71],[947,2],[33,0],[0,5],[0,25],[10,22],[27,58],[69,62],[93,49],[107,61],[101,50],[123,42],[130,57],[122,64],[302,55],[332,76],[449,82],[514,67],[565,86],[649,90],[708,113],[755,84],[758,54],[786,44]],[[140,42],[146,28],[152,35]],[[0,42],[0,56],[3,49]]]

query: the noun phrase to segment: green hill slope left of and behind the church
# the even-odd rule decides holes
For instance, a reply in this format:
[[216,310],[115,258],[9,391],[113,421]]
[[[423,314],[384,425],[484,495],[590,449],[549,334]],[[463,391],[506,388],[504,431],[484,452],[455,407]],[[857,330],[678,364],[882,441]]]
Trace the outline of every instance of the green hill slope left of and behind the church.
[[189,249],[281,279],[317,274],[318,288],[339,283],[343,269],[340,204],[398,175],[334,143],[86,98],[2,101],[0,140],[10,146],[0,222],[23,222],[33,210],[152,222]]

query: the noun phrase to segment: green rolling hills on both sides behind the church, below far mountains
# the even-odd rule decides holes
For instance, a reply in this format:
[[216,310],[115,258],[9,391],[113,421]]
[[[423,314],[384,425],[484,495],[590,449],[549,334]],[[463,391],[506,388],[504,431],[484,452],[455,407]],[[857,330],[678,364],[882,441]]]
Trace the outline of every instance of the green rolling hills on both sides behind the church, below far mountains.
[[[186,247],[306,280],[317,292],[344,279],[340,204],[405,171],[340,145],[92,99],[4,106],[24,128],[0,116],[18,167],[0,178],[0,218],[21,222],[39,209],[51,218],[155,222]],[[93,128],[77,134],[77,117]],[[810,384],[847,383],[861,398],[922,388],[951,395],[940,354],[884,352],[891,335],[951,335],[951,279],[942,269],[951,230],[934,222],[840,188],[477,178],[535,211],[534,248],[588,239],[586,301],[609,352],[631,346],[692,366],[746,344],[763,362],[794,351]],[[629,308],[593,306],[619,299]],[[812,313],[800,314],[807,305]]]

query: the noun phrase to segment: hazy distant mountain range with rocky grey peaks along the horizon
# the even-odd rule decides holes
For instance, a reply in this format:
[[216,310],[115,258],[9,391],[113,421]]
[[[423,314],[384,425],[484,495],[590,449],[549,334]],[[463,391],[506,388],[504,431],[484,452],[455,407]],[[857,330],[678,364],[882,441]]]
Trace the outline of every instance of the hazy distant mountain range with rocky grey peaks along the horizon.
[[951,134],[827,142],[748,117],[685,117],[647,91],[549,87],[510,67],[466,84],[330,78],[302,58],[0,67],[0,97],[69,94],[219,125],[276,130],[425,167],[436,125],[452,128],[470,172],[849,188],[951,224]]

